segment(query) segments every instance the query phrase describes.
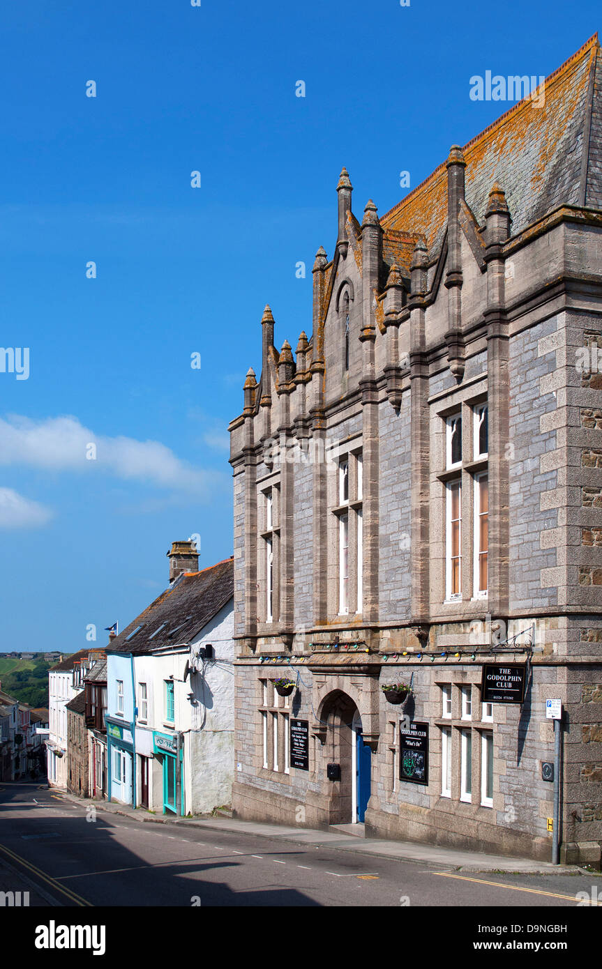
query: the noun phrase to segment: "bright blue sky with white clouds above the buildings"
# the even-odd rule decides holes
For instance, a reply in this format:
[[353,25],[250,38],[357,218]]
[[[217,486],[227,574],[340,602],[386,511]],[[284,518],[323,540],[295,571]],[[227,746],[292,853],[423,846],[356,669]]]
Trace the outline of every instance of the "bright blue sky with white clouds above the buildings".
[[383,214],[400,171],[416,186],[510,107],[472,101],[471,76],[550,74],[598,11],[3,5],[0,345],[30,373],[0,373],[0,650],[75,651],[88,624],[103,644],[165,587],[174,540],[201,535],[201,567],[232,554],[227,424],[266,302],[278,346],[310,334],[341,167],[356,214]]

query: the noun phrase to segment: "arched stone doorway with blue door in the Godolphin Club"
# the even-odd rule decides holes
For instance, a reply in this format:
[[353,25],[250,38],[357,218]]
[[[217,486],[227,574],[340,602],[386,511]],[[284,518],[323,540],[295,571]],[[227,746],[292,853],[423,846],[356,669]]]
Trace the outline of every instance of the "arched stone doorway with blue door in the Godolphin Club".
[[322,705],[320,719],[327,726],[326,762],[340,769],[338,779],[326,781],[330,824],[362,823],[370,797],[371,751],[364,744],[360,711],[351,697],[334,690]]

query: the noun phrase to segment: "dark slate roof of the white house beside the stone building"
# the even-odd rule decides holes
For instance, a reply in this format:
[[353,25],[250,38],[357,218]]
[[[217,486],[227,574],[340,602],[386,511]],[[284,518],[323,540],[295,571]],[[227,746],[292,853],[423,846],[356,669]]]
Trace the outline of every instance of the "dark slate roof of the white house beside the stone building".
[[[234,558],[201,572],[184,572],[111,641],[108,652],[149,653],[191,642],[233,597]],[[127,641],[138,626],[142,628]]]

